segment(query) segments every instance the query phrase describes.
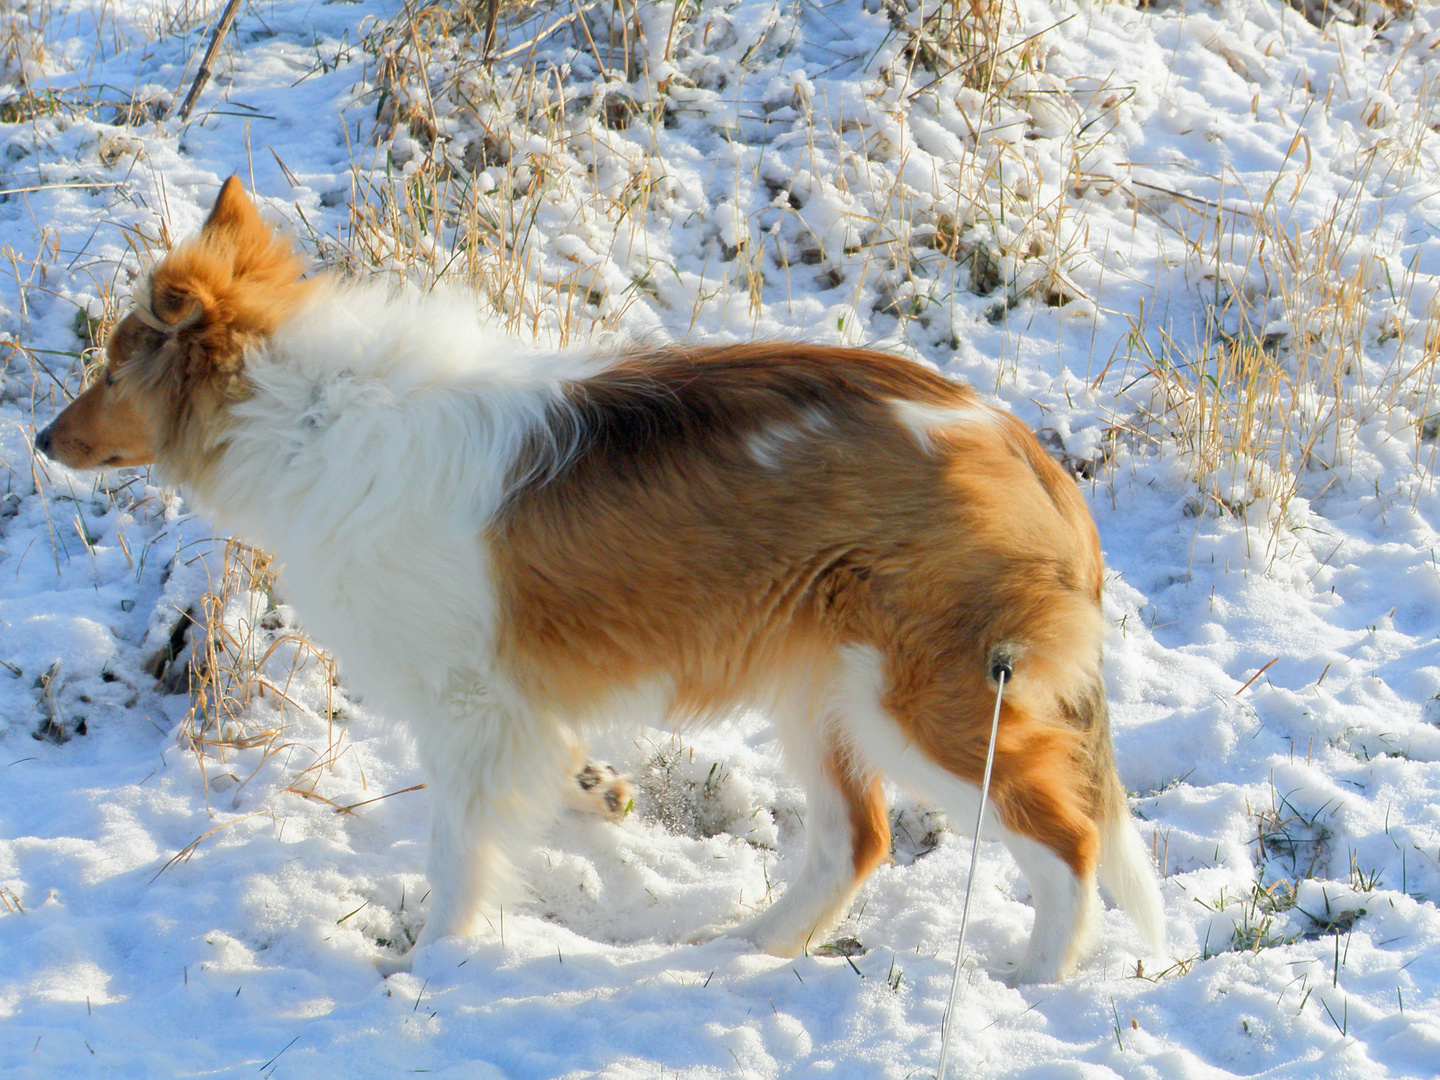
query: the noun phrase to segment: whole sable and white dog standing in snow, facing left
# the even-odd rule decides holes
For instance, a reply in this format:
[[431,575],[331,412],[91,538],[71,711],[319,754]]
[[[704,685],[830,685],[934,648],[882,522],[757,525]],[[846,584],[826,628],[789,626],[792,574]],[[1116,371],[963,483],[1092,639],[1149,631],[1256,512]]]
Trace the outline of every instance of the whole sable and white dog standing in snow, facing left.
[[1073,968],[1097,876],[1161,942],[1099,540],[1018,420],[880,353],[543,353],[456,300],[300,271],[232,177],[36,448],[153,461],[279,557],[307,628],[409,723],[433,799],[416,948],[477,929],[585,729],[753,706],[808,835],[730,933],[795,955],[888,855],[883,773],[973,819],[1002,661],[988,828],[1035,907],[1015,978]]

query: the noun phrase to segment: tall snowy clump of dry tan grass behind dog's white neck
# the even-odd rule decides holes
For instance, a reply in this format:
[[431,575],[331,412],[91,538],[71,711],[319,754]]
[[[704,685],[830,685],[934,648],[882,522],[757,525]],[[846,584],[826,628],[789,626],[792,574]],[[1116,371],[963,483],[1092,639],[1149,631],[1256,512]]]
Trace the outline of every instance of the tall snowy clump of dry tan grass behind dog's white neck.
[[[351,272],[477,289],[521,333],[590,337],[618,323],[624,297],[609,295],[599,256],[556,258],[536,229],[586,171],[566,88],[534,69],[495,78],[484,37],[459,4],[408,7],[366,39],[384,164],[357,164],[350,229],[333,253]],[[471,134],[451,137],[458,128]],[[615,209],[609,199],[599,213]]]

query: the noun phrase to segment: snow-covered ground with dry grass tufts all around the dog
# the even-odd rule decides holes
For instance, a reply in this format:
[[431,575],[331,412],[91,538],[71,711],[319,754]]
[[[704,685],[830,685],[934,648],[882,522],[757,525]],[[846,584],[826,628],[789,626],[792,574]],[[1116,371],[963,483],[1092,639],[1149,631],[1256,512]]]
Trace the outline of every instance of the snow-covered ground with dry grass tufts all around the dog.
[[1073,979],[1008,988],[985,965],[1030,907],[986,844],[952,1076],[1440,1073],[1431,4],[1316,27],[1276,0],[1007,0],[960,24],[543,3],[482,62],[445,6],[251,0],[183,122],[220,7],[0,3],[6,1076],[903,1079],[939,1057],[968,824],[903,792],[894,865],[831,955],[678,943],[795,868],[805,808],[763,716],[602,740],[634,812],[562,816],[492,933],[380,981],[423,917],[412,747],[249,553],[143,474],[30,454],[232,171],[317,262],[478,287],[550,338],[878,344],[1074,468],[1169,949],[1138,956],[1107,912]]

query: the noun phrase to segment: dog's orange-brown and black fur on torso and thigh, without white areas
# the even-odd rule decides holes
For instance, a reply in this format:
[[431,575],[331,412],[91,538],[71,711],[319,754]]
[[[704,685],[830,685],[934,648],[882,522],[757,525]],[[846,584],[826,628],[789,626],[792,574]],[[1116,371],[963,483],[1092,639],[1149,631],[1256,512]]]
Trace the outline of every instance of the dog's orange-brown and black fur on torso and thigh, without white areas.
[[[651,412],[634,405],[636,379]],[[707,714],[772,671],[868,644],[909,737],[978,782],[989,651],[1017,642],[996,805],[1093,876],[1109,734],[1077,703],[1099,678],[1099,543],[1074,484],[1028,432],[995,413],[926,451],[887,402],[976,408],[968,387],[814,346],[638,356],[583,393],[599,432],[589,451],[518,491],[494,527],[508,662],[531,693],[583,710],[609,685],[665,671],[677,706]],[[783,469],[747,458],[746,435],[806,408],[831,433]]]

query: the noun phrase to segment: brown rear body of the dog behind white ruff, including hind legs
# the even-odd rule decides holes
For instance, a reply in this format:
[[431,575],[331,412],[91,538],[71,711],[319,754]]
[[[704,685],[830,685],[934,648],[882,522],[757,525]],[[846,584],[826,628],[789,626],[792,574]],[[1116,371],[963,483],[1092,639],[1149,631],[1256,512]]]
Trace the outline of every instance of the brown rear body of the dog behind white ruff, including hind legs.
[[[563,461],[524,462],[491,530],[505,667],[564,714],[649,684],[680,716],[778,716],[831,812],[811,814],[804,884],[744,933],[804,948],[886,855],[881,772],[973,801],[1004,652],[995,818],[1037,924],[1058,923],[1021,976],[1066,971],[1102,850],[1138,848],[1109,841],[1130,827],[1099,541],[1034,436],[914,364],[773,343],[625,357],[569,386],[549,425],[537,446]],[[1158,926],[1152,893],[1120,894]]]

